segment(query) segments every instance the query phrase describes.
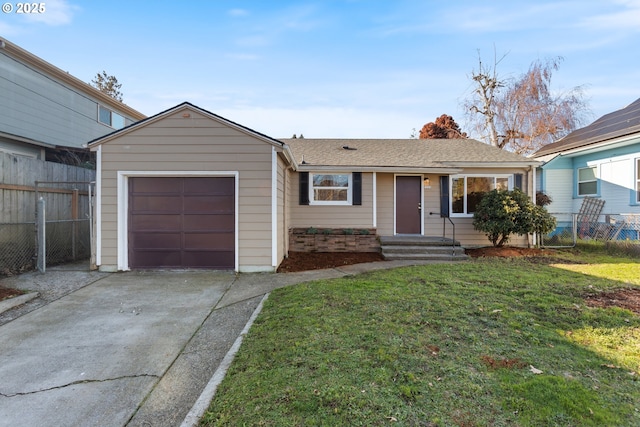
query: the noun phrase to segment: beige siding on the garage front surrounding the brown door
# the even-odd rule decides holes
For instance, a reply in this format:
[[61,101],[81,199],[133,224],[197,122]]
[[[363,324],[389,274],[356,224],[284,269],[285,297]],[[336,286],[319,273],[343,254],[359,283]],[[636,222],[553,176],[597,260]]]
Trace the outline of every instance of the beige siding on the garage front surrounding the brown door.
[[272,146],[189,110],[102,145],[102,265],[117,266],[118,171],[237,171],[239,267],[270,267]]

